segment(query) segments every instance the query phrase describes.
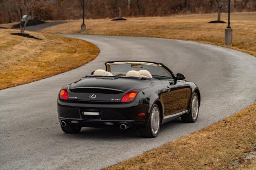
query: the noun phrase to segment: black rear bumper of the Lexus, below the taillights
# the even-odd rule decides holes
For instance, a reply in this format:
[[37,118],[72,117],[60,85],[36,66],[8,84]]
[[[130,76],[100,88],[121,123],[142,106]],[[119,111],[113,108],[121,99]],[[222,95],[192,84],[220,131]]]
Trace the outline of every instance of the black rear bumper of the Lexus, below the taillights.
[[[145,127],[148,123],[151,105],[136,102],[129,103],[82,103],[58,99],[58,119],[70,125],[81,127],[109,127],[127,123],[130,127]],[[85,118],[83,111],[99,112],[99,117]],[[145,113],[145,116],[138,116]],[[72,121],[72,122],[71,122]],[[74,123],[75,121],[75,123]],[[78,124],[77,124],[78,123]]]

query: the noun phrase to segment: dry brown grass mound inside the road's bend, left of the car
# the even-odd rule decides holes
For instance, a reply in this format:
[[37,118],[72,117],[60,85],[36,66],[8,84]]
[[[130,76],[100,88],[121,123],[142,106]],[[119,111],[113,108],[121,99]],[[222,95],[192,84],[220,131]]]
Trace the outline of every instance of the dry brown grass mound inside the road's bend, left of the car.
[[26,32],[42,40],[10,35],[0,29],[0,89],[74,69],[94,59],[99,49],[89,42],[45,33]]

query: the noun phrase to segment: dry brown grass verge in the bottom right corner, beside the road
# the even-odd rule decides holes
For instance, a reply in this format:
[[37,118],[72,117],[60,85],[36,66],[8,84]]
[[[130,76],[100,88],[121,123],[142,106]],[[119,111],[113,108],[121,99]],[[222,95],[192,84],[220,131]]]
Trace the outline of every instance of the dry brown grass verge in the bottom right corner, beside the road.
[[[242,162],[255,147],[256,103],[223,121],[107,169],[239,168],[232,165]],[[255,165],[252,160],[252,165],[243,168]]]

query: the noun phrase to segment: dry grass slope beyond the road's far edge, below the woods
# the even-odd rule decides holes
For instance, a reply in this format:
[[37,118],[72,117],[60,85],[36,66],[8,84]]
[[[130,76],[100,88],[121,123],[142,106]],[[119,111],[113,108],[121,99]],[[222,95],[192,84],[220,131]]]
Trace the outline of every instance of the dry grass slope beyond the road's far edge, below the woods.
[[[208,24],[217,14],[172,17],[127,18],[127,21],[110,19],[86,20],[86,34],[141,36],[191,40],[224,46],[224,29],[227,24]],[[222,14],[227,22],[227,14]],[[81,20],[42,30],[48,33],[80,34]],[[233,49],[256,56],[256,12],[232,13]]]

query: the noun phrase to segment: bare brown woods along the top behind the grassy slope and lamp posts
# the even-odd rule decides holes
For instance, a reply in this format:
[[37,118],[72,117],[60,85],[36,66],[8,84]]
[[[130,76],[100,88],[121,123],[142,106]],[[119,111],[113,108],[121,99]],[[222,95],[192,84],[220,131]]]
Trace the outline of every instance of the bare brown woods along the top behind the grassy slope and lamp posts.
[[[29,9],[40,20],[82,18],[83,0],[0,0],[0,23],[19,21]],[[86,18],[169,16],[227,12],[228,0],[86,0]],[[23,3],[23,4],[22,4]],[[26,6],[27,9],[24,9]],[[231,0],[231,12],[255,11],[255,0]]]

